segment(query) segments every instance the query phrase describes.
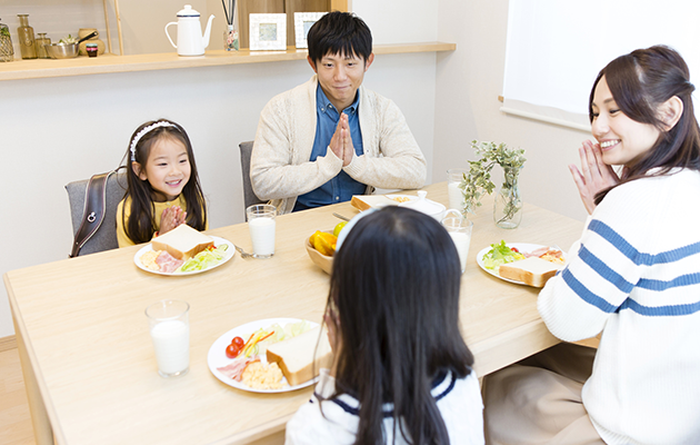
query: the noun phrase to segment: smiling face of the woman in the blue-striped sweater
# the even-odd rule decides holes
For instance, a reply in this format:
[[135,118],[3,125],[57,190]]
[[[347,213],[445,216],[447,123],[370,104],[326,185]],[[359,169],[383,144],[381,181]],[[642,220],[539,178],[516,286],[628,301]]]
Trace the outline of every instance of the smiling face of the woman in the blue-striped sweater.
[[633,165],[661,135],[653,125],[632,120],[618,108],[604,76],[596,86],[591,109],[593,136],[600,144],[603,162],[609,166]]

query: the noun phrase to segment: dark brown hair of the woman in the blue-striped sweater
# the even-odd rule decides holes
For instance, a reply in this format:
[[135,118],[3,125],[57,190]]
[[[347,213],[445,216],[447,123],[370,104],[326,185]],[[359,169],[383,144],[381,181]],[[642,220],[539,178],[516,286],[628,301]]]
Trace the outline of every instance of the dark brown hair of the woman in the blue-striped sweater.
[[[620,56],[608,63],[598,73],[591,89],[588,107],[591,122],[593,95],[603,76],[617,106],[628,118],[653,125],[661,132],[651,150],[639,161],[626,166],[620,184],[640,179],[656,167],[660,169],[653,176],[668,175],[676,167],[700,170],[700,128],[691,96],[696,87],[690,83],[688,65],[676,50],[654,46]],[[659,107],[673,96],[683,102],[683,112],[676,126],[667,131]],[[614,187],[596,195],[596,204],[600,204]]]

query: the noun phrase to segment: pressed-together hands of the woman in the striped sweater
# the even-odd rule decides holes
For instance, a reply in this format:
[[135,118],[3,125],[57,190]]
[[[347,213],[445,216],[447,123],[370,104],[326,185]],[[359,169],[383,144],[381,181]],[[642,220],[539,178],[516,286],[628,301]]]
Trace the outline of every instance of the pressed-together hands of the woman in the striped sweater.
[[584,140],[581,148],[579,148],[579,156],[581,157],[582,172],[573,164],[569,166],[569,170],[571,170],[571,176],[579,189],[586,210],[592,214],[596,209],[596,195],[600,190],[618,184],[620,178],[611,166],[602,161],[600,145]]

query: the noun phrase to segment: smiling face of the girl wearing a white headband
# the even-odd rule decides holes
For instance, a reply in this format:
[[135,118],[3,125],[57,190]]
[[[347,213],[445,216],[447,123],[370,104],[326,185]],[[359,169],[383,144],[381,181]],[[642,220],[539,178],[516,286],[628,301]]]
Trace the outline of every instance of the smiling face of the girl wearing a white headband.
[[153,200],[171,201],[190,180],[191,166],[184,145],[172,137],[160,137],[151,146],[146,168],[133,162],[134,172],[148,180],[154,191]]

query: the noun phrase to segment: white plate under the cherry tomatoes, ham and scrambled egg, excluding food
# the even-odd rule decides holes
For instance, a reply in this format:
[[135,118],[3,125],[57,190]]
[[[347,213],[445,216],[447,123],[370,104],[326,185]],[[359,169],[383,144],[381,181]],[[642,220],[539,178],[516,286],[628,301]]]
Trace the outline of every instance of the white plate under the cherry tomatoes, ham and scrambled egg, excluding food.
[[[214,377],[217,377],[224,384],[229,386],[233,386],[234,388],[238,388],[238,389],[249,390],[251,393],[266,393],[266,394],[289,393],[290,390],[297,390],[297,389],[306,388],[309,385],[313,385],[316,382],[318,382],[319,377],[314,377],[299,385],[287,386],[281,389],[256,389],[256,388],[251,388],[250,386],[244,385],[242,382],[236,382],[234,379],[223,375],[217,369],[233,362],[232,358],[227,357],[226,347],[231,344],[231,340],[234,337],[241,337],[243,338],[243,340],[247,340],[248,337],[250,337],[252,333],[254,333],[256,330],[260,328],[264,329],[271,325],[274,325],[276,323],[284,327],[284,325],[287,325],[288,323],[298,323],[298,322],[301,322],[301,319],[300,318],[268,318],[268,319],[262,319],[262,320],[257,320],[257,322],[250,322],[239,327],[234,327],[233,329],[223,334],[221,337],[217,338],[213,345],[211,345],[211,347],[209,348],[209,354],[207,354],[207,365],[209,365],[209,370],[211,370],[211,374],[213,374]],[[313,322],[307,322],[307,323],[309,323],[309,325],[312,328],[319,325],[318,323],[313,323]],[[260,358],[260,362],[268,363],[268,359],[266,356],[261,355],[259,356],[259,358]],[[282,382],[287,383],[287,378],[282,377]]]

